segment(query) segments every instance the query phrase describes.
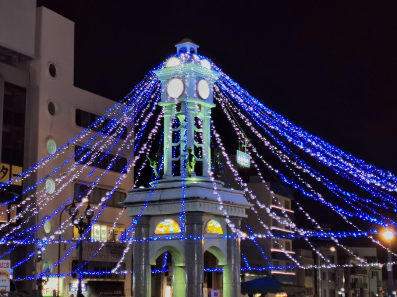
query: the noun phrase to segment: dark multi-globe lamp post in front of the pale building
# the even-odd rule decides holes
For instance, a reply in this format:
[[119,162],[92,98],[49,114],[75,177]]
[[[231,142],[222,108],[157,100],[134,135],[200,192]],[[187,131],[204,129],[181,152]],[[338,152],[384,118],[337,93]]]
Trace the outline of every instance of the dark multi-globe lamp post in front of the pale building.
[[[78,243],[78,267],[81,269],[82,265],[82,256],[83,256],[83,239],[81,238],[84,235],[85,230],[90,226],[91,219],[94,216],[94,210],[91,208],[90,203],[88,202],[87,208],[84,211],[84,216],[87,219],[87,222],[84,221],[84,217],[80,216],[79,219],[75,219],[78,215],[78,209],[74,204],[74,201],[71,203],[69,207],[69,215],[73,222],[73,226],[75,226],[78,230],[78,235],[80,237],[80,242]],[[80,274],[79,270],[77,271],[77,278],[78,278],[78,287],[77,287],[77,297],[84,297],[81,290],[81,281],[82,275]]]

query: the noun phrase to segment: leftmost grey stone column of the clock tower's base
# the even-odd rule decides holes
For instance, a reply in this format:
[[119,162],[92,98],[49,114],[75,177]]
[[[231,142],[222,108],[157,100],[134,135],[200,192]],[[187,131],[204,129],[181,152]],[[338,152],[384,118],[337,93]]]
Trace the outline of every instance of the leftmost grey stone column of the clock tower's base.
[[[134,218],[138,219],[138,218]],[[141,216],[135,225],[132,262],[132,296],[150,297],[151,269],[149,263],[149,243],[139,241],[149,236],[149,217]]]

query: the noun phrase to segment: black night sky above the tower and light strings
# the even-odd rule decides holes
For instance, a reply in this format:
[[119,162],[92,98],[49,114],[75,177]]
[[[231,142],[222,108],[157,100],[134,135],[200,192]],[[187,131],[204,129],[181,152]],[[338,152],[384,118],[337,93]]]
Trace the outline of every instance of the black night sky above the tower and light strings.
[[75,22],[77,87],[120,100],[190,38],[269,108],[397,173],[397,2],[252,2],[38,5]]

